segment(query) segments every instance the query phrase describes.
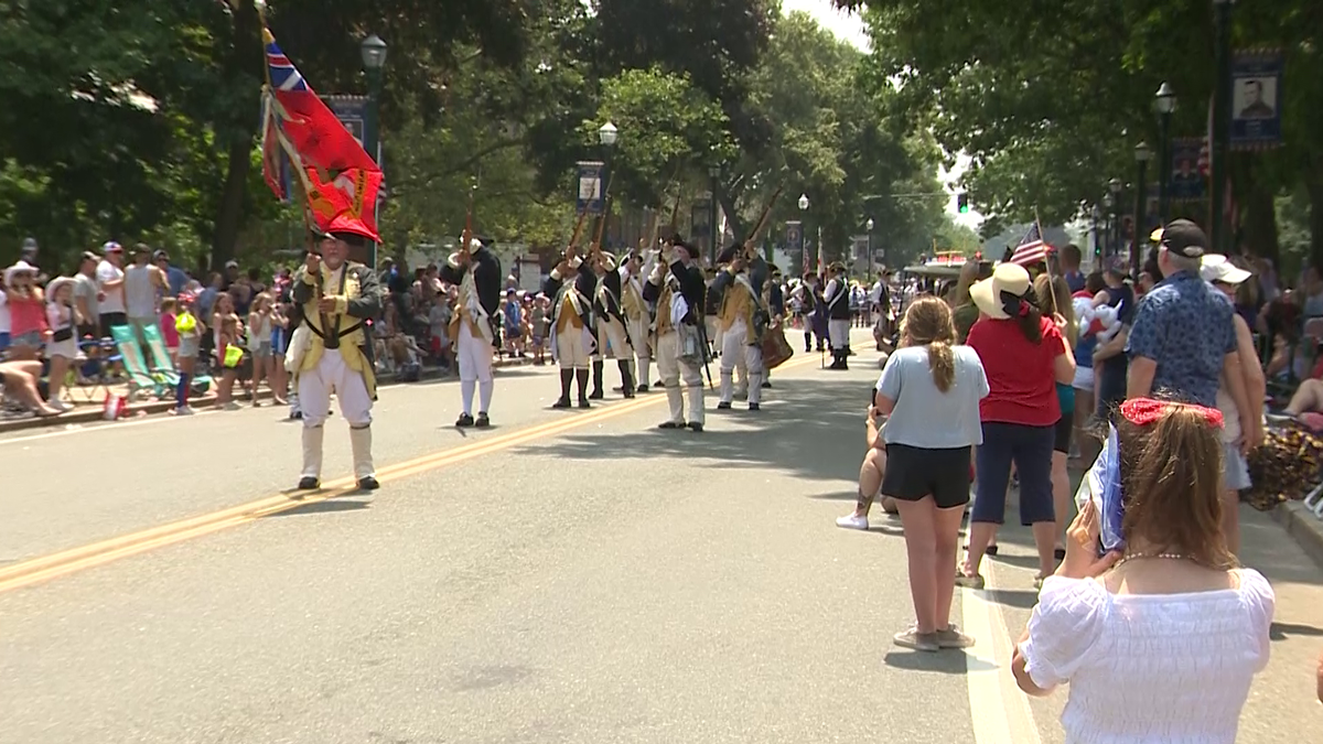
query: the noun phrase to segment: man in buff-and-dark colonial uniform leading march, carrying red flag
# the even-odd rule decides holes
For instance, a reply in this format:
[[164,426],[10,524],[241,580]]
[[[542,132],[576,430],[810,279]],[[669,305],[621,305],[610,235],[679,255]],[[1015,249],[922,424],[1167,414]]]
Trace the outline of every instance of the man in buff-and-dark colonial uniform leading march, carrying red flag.
[[290,369],[303,413],[303,477],[300,490],[321,485],[321,443],[331,413],[331,393],[349,424],[353,477],[359,488],[378,487],[372,463],[372,401],[377,377],[372,338],[364,323],[381,315],[377,273],[348,261],[349,244],[377,241],[361,220],[341,214],[325,230],[314,229],[315,250],[294,277],[291,294],[303,322],[290,340]]

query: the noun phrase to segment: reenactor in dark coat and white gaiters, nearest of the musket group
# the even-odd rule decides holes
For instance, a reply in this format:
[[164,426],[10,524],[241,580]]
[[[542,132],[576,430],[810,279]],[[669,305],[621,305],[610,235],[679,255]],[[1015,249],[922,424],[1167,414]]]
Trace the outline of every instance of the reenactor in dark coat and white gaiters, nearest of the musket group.
[[[643,286],[643,298],[655,302],[658,308],[652,348],[656,351],[658,372],[671,405],[671,418],[660,428],[688,426],[703,432],[701,369],[706,359],[706,344],[699,326],[703,323],[706,289],[703,270],[696,265],[697,250],[679,237],[668,241],[660,258]],[[688,422],[684,418],[685,397],[689,404]]]

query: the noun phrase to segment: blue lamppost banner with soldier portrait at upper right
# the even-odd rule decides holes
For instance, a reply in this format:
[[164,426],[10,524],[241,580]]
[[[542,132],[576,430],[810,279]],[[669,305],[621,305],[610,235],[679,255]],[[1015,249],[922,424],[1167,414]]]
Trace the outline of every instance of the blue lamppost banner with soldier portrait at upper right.
[[1266,150],[1282,144],[1282,69],[1279,50],[1232,56],[1233,150]]

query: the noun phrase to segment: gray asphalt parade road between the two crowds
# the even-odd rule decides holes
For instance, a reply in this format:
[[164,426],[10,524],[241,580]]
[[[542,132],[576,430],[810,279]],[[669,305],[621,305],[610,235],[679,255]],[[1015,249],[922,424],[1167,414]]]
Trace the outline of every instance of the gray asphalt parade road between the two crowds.
[[[656,430],[658,393],[553,412],[550,369],[500,371],[483,433],[450,426],[458,384],[390,388],[382,490],[303,504],[273,409],[0,438],[0,743],[1061,741],[1065,692],[1005,671],[1023,531],[962,590],[978,647],[890,645],[900,524],[832,522],[873,359],[796,356],[758,414],[710,397],[701,436]],[[1315,740],[1323,572],[1245,518],[1278,624],[1238,741]]]

